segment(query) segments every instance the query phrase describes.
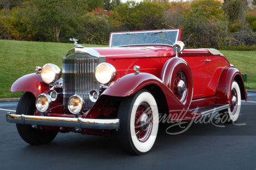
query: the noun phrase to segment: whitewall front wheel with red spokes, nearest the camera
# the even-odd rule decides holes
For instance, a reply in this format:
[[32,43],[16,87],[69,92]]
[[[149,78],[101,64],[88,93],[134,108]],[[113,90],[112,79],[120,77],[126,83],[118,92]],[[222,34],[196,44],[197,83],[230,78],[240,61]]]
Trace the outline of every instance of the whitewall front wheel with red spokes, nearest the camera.
[[149,152],[158,133],[158,107],[154,96],[141,90],[121,102],[118,110],[120,128],[118,138],[131,154]]

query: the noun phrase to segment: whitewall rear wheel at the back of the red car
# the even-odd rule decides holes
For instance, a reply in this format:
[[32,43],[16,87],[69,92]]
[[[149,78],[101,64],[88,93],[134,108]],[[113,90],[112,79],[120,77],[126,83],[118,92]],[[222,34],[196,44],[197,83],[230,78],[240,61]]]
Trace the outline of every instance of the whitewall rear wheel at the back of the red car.
[[[232,103],[232,98],[236,97],[236,105]],[[233,81],[230,91],[230,108],[220,111],[221,122],[224,124],[230,124],[237,121],[240,115],[241,109],[241,92],[239,85],[236,81]]]

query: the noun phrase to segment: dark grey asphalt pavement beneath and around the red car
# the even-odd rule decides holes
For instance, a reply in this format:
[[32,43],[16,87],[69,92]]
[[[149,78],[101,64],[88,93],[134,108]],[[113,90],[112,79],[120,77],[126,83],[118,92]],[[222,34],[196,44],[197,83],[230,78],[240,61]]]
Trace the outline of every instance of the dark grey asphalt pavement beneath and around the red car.
[[5,120],[4,109],[15,111],[17,102],[0,103],[0,169],[256,169],[256,93],[248,98],[237,125],[196,122],[170,135],[164,124],[151,152],[142,156],[126,154],[117,137],[75,133],[30,146]]

